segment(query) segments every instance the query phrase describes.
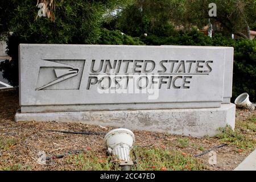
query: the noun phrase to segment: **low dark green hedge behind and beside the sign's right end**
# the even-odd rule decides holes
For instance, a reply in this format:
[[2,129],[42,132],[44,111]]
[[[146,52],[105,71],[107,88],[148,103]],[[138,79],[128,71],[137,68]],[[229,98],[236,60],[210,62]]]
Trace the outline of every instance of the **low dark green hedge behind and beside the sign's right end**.
[[256,102],[256,40],[233,40],[221,34],[213,38],[203,33],[179,31],[174,36],[159,37],[156,35],[142,36],[141,40],[147,45],[180,45],[180,46],[225,46],[234,47],[233,68],[233,97],[247,92],[250,100]]

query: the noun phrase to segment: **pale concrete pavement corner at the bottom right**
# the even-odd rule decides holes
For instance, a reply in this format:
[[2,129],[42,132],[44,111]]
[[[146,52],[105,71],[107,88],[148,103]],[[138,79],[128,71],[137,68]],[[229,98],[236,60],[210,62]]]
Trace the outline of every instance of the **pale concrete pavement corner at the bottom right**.
[[234,171],[256,171],[256,149]]

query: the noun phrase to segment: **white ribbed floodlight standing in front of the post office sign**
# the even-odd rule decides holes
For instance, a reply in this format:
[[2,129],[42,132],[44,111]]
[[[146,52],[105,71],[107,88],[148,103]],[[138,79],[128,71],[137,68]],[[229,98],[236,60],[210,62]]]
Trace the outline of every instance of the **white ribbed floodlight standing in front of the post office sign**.
[[130,150],[135,141],[133,132],[128,129],[114,129],[105,135],[104,140],[108,147],[108,154],[117,156],[123,170],[130,170],[133,165]]

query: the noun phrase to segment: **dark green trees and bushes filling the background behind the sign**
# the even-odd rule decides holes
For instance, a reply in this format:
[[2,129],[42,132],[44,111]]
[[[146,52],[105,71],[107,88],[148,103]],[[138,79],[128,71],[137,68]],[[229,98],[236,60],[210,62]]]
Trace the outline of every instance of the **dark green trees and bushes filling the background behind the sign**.
[[[208,24],[211,2],[217,5],[213,38],[199,31]],[[247,92],[256,101],[256,40],[249,34],[256,30],[254,0],[53,0],[49,18],[36,17],[36,3],[0,0],[0,35],[11,57],[0,71],[13,86],[20,43],[231,46],[233,100]]]

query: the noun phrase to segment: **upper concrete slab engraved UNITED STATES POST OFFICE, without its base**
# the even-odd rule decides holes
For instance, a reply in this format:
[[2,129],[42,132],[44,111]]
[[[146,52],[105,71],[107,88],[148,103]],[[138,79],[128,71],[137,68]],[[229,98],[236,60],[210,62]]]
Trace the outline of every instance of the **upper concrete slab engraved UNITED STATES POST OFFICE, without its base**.
[[233,48],[20,44],[21,113],[220,108]]

